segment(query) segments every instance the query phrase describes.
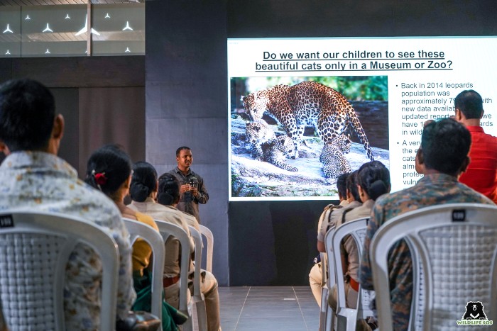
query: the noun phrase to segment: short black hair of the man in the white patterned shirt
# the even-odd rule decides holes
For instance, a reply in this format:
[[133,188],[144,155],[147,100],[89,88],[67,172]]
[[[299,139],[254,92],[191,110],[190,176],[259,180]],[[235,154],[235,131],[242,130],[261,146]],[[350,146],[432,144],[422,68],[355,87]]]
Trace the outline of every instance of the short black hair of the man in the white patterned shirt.
[[0,140],[11,152],[47,147],[54,118],[55,100],[43,84],[15,79],[0,86]]

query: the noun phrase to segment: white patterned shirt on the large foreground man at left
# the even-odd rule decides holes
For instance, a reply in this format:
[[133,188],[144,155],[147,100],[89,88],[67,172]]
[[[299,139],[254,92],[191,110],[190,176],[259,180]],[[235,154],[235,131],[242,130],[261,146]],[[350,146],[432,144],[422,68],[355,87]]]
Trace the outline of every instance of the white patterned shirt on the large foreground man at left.
[[[129,233],[114,203],[77,178],[63,159],[44,152],[14,152],[0,165],[0,211],[22,208],[74,215],[109,229],[119,246],[117,314],[127,315],[136,298]],[[77,245],[66,269],[66,330],[97,330],[102,262],[86,245]]]

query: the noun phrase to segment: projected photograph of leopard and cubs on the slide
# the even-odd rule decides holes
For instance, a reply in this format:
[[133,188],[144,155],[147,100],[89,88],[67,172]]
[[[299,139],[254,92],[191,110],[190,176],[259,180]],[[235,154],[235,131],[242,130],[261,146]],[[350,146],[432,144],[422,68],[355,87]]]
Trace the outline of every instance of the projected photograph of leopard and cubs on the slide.
[[337,196],[340,174],[389,167],[388,77],[232,77],[232,198]]

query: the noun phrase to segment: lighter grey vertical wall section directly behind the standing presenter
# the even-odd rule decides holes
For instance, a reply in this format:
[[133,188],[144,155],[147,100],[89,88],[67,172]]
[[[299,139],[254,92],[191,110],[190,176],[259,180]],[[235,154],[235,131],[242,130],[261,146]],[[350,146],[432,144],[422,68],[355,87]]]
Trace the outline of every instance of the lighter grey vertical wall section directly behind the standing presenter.
[[226,4],[150,1],[146,18],[146,159],[161,173],[176,148],[192,148],[211,199],[200,214],[214,232],[214,274],[228,285]]

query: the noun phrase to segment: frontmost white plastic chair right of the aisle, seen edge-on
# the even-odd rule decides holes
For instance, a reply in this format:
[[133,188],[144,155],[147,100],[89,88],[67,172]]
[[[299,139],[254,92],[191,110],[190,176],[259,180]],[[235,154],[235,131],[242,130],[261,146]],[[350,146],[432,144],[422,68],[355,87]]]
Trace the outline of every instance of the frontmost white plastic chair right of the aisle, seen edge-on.
[[[333,313],[332,308],[328,305],[328,296],[330,293],[330,289],[333,287],[334,284],[337,284],[337,274],[335,274],[334,268],[334,256],[333,254],[329,254],[332,249],[331,240],[334,230],[335,227],[332,226],[326,232],[326,235],[324,235],[324,247],[326,248],[325,255],[327,256],[327,267],[325,268],[324,266],[322,266],[322,272],[325,271],[324,269],[327,269],[328,276],[326,289],[322,288],[321,291],[320,331],[332,331],[334,330],[335,325],[335,314]],[[322,318],[324,318],[324,321],[322,321]]]

